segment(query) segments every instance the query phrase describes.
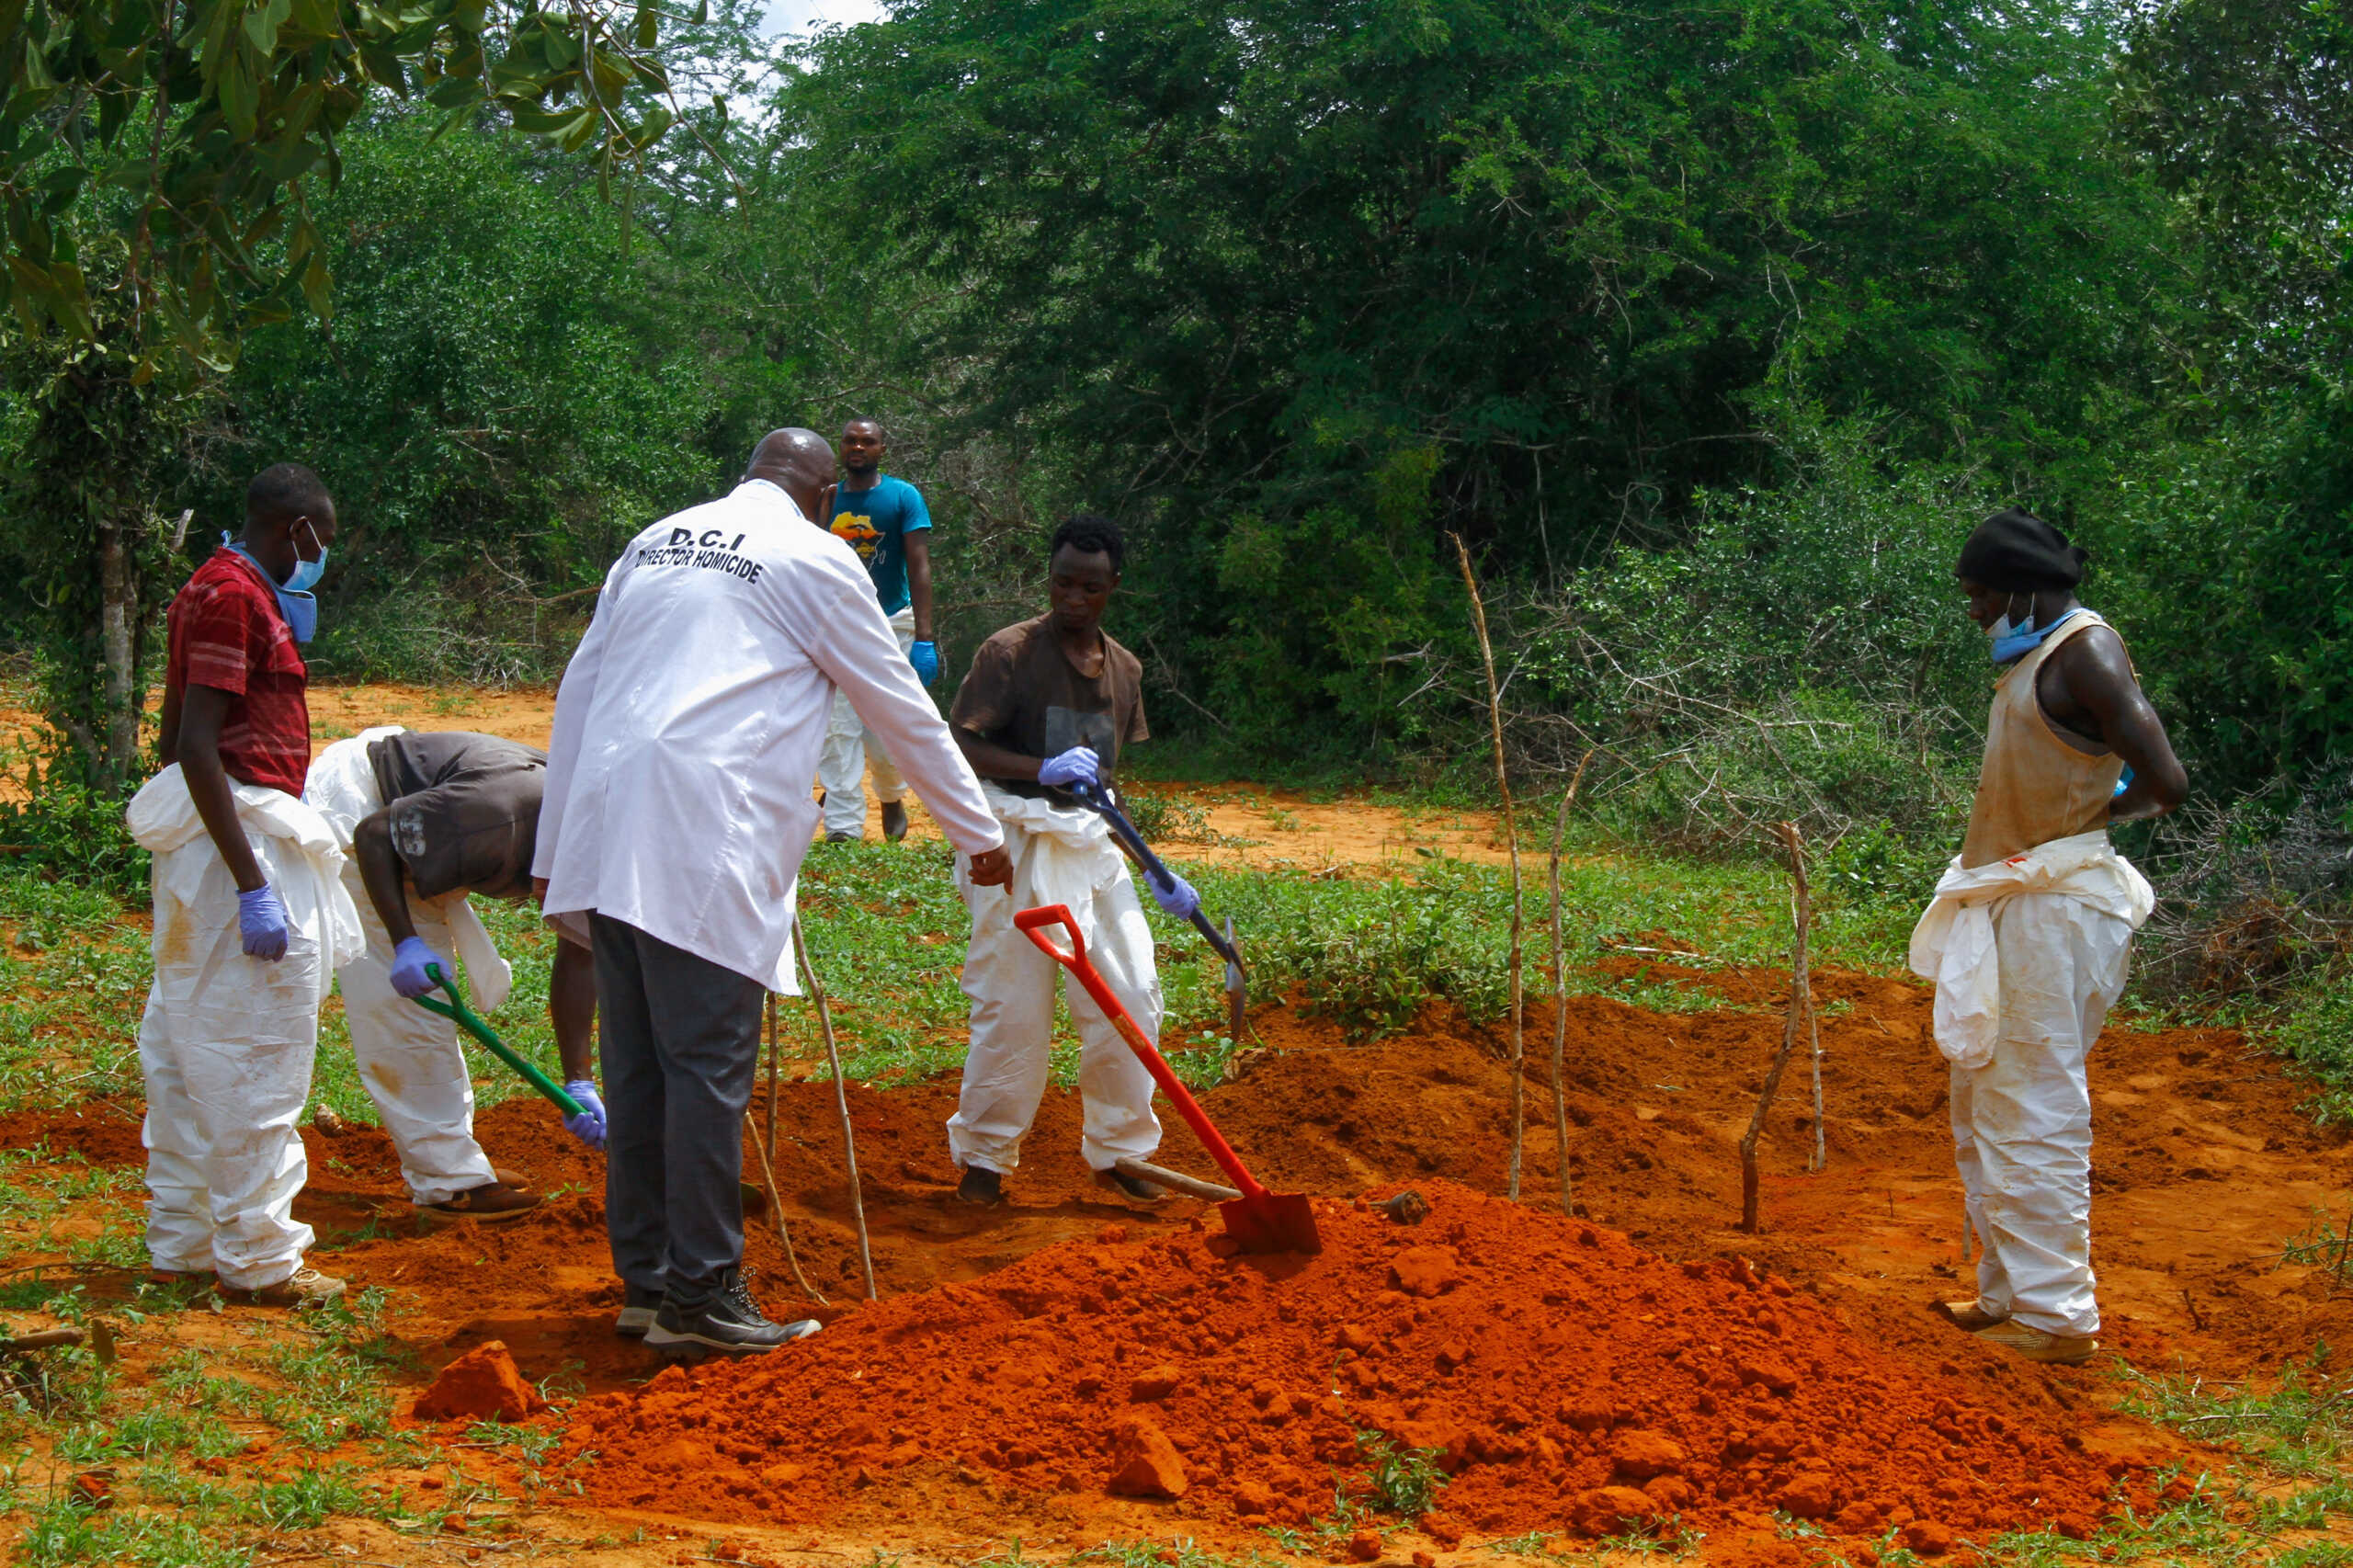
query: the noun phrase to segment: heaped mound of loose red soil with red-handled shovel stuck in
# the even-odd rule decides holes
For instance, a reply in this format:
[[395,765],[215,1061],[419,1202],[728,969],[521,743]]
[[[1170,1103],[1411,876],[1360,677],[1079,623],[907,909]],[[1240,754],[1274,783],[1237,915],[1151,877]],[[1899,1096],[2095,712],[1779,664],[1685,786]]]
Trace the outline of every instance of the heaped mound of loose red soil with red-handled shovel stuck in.
[[600,1455],[600,1500],[704,1519],[816,1519],[948,1469],[1297,1523],[1367,1469],[1365,1431],[1438,1450],[1445,1514],[1497,1533],[1784,1509],[1941,1540],[2089,1521],[2139,1490],[2139,1464],[2092,1453],[2064,1410],[2019,1422],[1984,1380],[1880,1354],[1741,1260],[1675,1264],[1426,1191],[1421,1227],[1320,1205],[1320,1257],[1233,1257],[1214,1227],[1061,1243],[586,1401],[572,1446]]

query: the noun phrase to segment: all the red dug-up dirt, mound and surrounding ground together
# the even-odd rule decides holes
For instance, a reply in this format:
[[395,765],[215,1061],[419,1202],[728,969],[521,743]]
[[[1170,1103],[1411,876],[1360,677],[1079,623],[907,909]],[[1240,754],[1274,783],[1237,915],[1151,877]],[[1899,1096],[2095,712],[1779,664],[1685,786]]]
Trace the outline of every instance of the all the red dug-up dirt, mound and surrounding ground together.
[[[1172,1201],[1134,1212],[1094,1189],[1078,1163],[1075,1095],[1047,1097],[1028,1163],[1007,1182],[1012,1201],[1002,1210],[958,1205],[941,1135],[955,1102],[953,1081],[852,1092],[885,1295],[875,1309],[854,1307],[856,1260],[833,1090],[784,1085],[776,1180],[800,1262],[833,1300],[814,1309],[798,1302],[776,1236],[762,1222],[753,1227],[751,1264],[760,1269],[758,1290],[772,1311],[812,1311],[833,1328],[788,1351],[791,1361],[675,1373],[652,1391],[642,1380],[656,1363],[609,1333],[619,1288],[605,1267],[598,1163],[544,1107],[508,1102],[482,1118],[492,1156],[553,1194],[546,1210],[522,1224],[461,1222],[419,1231],[400,1196],[391,1147],[374,1130],[306,1132],[313,1165],[299,1212],[332,1248],[322,1248],[322,1267],[395,1293],[407,1307],[398,1328],[431,1368],[501,1340],[527,1377],[546,1377],[565,1363],[584,1368],[598,1398],[576,1413],[581,1436],[649,1434],[661,1424],[664,1401],[673,1415],[699,1403],[713,1434],[725,1427],[755,1453],[774,1455],[753,1464],[729,1453],[729,1464],[746,1474],[776,1464],[802,1471],[776,1471],[765,1483],[774,1497],[732,1495],[704,1479],[678,1486],[647,1462],[588,1471],[600,1507],[619,1516],[654,1509],[673,1523],[760,1519],[774,1504],[786,1516],[842,1530],[929,1519],[967,1537],[1005,1540],[1045,1523],[1099,1537],[1108,1521],[1132,1521],[1141,1509],[1146,1521],[1176,1516],[1186,1530],[1214,1537],[1242,1516],[1297,1516],[1318,1486],[1325,1502],[1315,1507],[1327,1507],[1329,1467],[1348,1460],[1346,1424],[1320,1403],[1334,1391],[1355,1401],[1348,1420],[1369,1417],[1400,1434],[1421,1422],[1424,1436],[1447,1439],[1435,1446],[1454,1450],[1449,1462],[1468,1464],[1442,1502],[1461,1509],[1459,1523],[1494,1533],[1569,1528],[1581,1514],[1593,1516],[1602,1507],[1593,1493],[1612,1469],[1628,1483],[1645,1467],[1640,1457],[1633,1469],[1617,1462],[1619,1441],[1628,1431],[1664,1431],[1687,1455],[1678,1471],[1692,1488],[1685,1511],[1720,1526],[1708,1544],[1718,1561],[1729,1561],[1725,1552],[1774,1556],[1762,1509],[1777,1500],[1788,1507],[1788,1488],[1807,1474],[1833,1476],[1817,1493],[1798,1493],[1798,1502],[1819,1500],[1833,1528],[1885,1528],[1904,1523],[1897,1511],[1906,1511],[1979,1530],[2005,1519],[2005,1509],[2052,1516],[2066,1500],[2064,1511],[2092,1511],[2101,1490],[2087,1481],[2092,1469],[2106,1481],[2115,1460],[2179,1450],[2172,1439],[2111,1415],[2120,1384],[2101,1363],[2033,1368],[1979,1347],[1929,1311],[1929,1302],[1965,1290],[1955,1290],[1960,1203],[1944,1125],[1944,1071],[1927,1041],[1922,986],[1866,975],[1817,977],[1819,1001],[1833,1012],[1824,1019],[1828,1170],[1802,1170],[1809,1130],[1800,1116],[1807,1097],[1800,1064],[1784,1085],[1765,1147],[1765,1234],[1744,1236],[1732,1229],[1739,1212],[1734,1140],[1779,1038],[1786,977],[1657,965],[1649,972],[1713,986],[1741,1005],[1654,1015],[1572,998],[1569,1168],[1579,1212],[1591,1220],[1586,1227],[1513,1215],[1473,1196],[1504,1187],[1508,1071],[1499,1062],[1497,1031],[1471,1029],[1459,1015],[1433,1008],[1405,1038],[1351,1048],[1287,1008],[1254,1019],[1268,1050],[1245,1057],[1240,1078],[1205,1102],[1261,1180],[1278,1191],[1329,1198],[1412,1184],[1438,1203],[1419,1234],[1348,1205],[1322,1210],[1334,1248],[1308,1271],[1325,1271],[1334,1288],[1360,1288],[1362,1307],[1346,1318],[1332,1316],[1337,1307],[1325,1295],[1311,1295],[1292,1302],[1297,1316],[1287,1321],[1282,1300],[1266,1295],[1271,1283],[1238,1283],[1245,1281],[1238,1264],[1212,1262],[1205,1253],[1217,1220],[1207,1217],[1207,1236],[1195,1220],[1207,1205]],[[1529,1008],[1527,1038],[1532,1055],[1548,1048],[1548,1008]],[[1548,1076],[1537,1062],[1532,1069],[1522,1210],[1558,1208],[1551,1198],[1558,1165]],[[2341,1342],[2353,1333],[2353,1302],[2334,1295],[2325,1274],[2278,1267],[2280,1243],[2308,1224],[2311,1210],[2344,1212],[2353,1147],[2297,1114],[2299,1088],[2271,1057],[2249,1052],[2233,1031],[2111,1029],[2094,1055],[2092,1088],[2094,1245],[2111,1349],[2144,1370],[2184,1368],[2212,1377],[2278,1366],[2308,1354],[2318,1337]],[[136,1125],[115,1107],[0,1118],[0,1144],[33,1137],[108,1165],[139,1158]],[[1209,1170],[1181,1128],[1172,1128],[1162,1156]],[[758,1170],[751,1158],[746,1168]],[[1120,1227],[1125,1243],[1104,1241],[1106,1227]],[[1581,1241],[1586,1231],[1595,1243]],[[1433,1300],[1386,1300],[1391,1255],[1421,1243],[1454,1248],[1466,1264],[1464,1285]],[[1489,1295],[1499,1281],[1539,1274],[1537,1255],[1551,1260],[1544,1267],[1558,1278],[1539,1285],[1534,1302]],[[1788,1403],[1798,1441],[1784,1446],[1781,1457],[1758,1450],[1765,1462],[1755,1476],[1748,1474],[1755,1455],[1734,1453],[1769,1424],[1746,1413],[1758,1401],[1755,1384],[1741,1384],[1739,1394],[1720,1389],[1713,1413],[1701,1401],[1701,1387],[1727,1375],[1741,1382],[1734,1328],[1751,1311],[1746,1302],[1765,1302],[1746,1288],[1744,1267],[1729,1260],[1751,1260],[1755,1271],[1791,1283],[1795,1295],[1774,1297],[1767,1311],[1805,1347]],[[1708,1267],[1687,1274],[1673,1264]],[[1240,1394],[1249,1410],[1228,1422],[1231,1436],[1221,1436],[1217,1422],[1224,1417],[1212,1420],[1205,1391],[1198,1408],[1179,1398],[1158,1413],[1179,1450],[1207,1441],[1209,1455],[1226,1455],[1202,1460],[1198,1483],[1181,1500],[1127,1502],[1099,1493],[1101,1446],[1132,1410],[1125,1384],[1104,1368],[1085,1368],[1092,1366],[1087,1356],[1115,1356],[1115,1347],[1071,1349],[1052,1314],[1040,1318],[1005,1307],[1035,1288],[1061,1293],[1061,1309],[1082,1314],[1075,1302],[1087,1290],[1101,1295],[1104,1278],[1129,1278],[1167,1297],[1155,1318],[1120,1318],[1141,1326],[1120,1342],[1125,1361],[1118,1366],[1136,1366],[1158,1335],[1176,1335],[1167,1358],[1179,1375],[1200,1377],[1202,1389],[1217,1377],[1219,1398],[1231,1403]],[[1217,1283],[1186,1300],[1181,1290],[1193,1278]],[[976,1281],[986,1285],[969,1288]],[[1560,1300],[1546,1302],[1544,1288]],[[1642,1290],[1659,1300],[1633,1311]],[[1249,1314],[1266,1302],[1282,1328],[1233,1333],[1257,1321]],[[1471,1318],[1452,1318],[1457,1309]],[[1661,1323],[1642,1323],[1642,1314]],[[1339,1337],[1344,1326],[1372,1335],[1355,1361],[1339,1354],[1351,1344]],[[1668,1335],[1652,1342],[1661,1328]],[[901,1333],[892,1356],[868,1354]],[[1673,1333],[1687,1333],[1689,1347],[1668,1366],[1661,1347]],[[1259,1347],[1261,1340],[1292,1342],[1294,1351],[1285,1363],[1289,1382],[1257,1377],[1278,1384],[1268,1403],[1280,1394],[1299,1413],[1280,1429],[1266,1427],[1257,1382],[1247,1375],[1273,1354]],[[1440,1351],[1449,1347],[1471,1354],[1442,1370]],[[1567,1356],[1565,1347],[1581,1349]],[[1605,1410],[1605,1424],[1588,1429],[1591,1410],[1577,1401],[1598,1387],[1595,1347],[1607,1351],[1628,1396]],[[859,1394],[849,1382],[861,1366],[885,1368],[894,1396],[915,1408],[925,1408],[927,1389],[941,1398],[965,1389],[960,1398],[1002,1406],[1009,1413],[1002,1441],[960,1439],[965,1429],[946,1420],[885,1417],[880,1396],[873,1396],[871,1431],[826,1427],[816,1417],[835,1410],[826,1420],[838,1422],[840,1391]],[[1358,1387],[1346,1366],[1379,1366],[1395,1387],[1381,1387],[1379,1375],[1369,1389]],[[1038,1375],[1021,1382],[1021,1368]],[[1087,1375],[1101,1377],[1099,1408],[1082,1403],[1080,1377]],[[828,1377],[838,1380],[831,1406],[816,1398]],[[1440,1384],[1475,1396],[1431,1403]],[[767,1427],[746,1424],[751,1406],[741,1401],[758,1396],[776,1401]],[[1929,1401],[1927,1410],[1937,1401],[1951,1406],[1932,1420],[1974,1446],[1965,1462],[1953,1462],[1929,1443],[1925,1455],[1901,1460],[1911,1467],[1904,1481],[1885,1471],[1899,1460],[1878,1453],[1885,1443],[1859,1434],[1857,1422],[1880,1403],[1918,1413],[1920,1398]],[[802,1410],[812,1417],[807,1427],[795,1424]],[[1972,1424],[1986,1413],[2009,1422],[2014,1434],[2073,1439],[2080,1448],[2061,1441],[2033,1453],[2042,1439],[2019,1441],[2005,1448],[2002,1464],[2021,1469],[1998,1476],[2000,1467],[1986,1467],[1981,1453],[1991,1427]],[[1939,1436],[1955,1441],[1944,1427]],[[1734,1439],[1734,1431],[1748,1436]],[[842,1443],[859,1436],[866,1441],[847,1443],[845,1457]],[[1266,1450],[1257,1446],[1261,1439]],[[1558,1462],[1537,1439],[1558,1450]],[[1807,1443],[1819,1450],[1812,1471]],[[1494,1457],[1513,1446],[1522,1446],[1520,1457]],[[614,1450],[642,1453],[645,1446],[626,1441]],[[1986,1469],[1991,1490],[1937,1495],[1925,1476],[1939,1467],[1944,1474]],[[1075,1490],[1061,1488],[1064,1471]],[[1245,1493],[1247,1486],[1264,1493]],[[2047,1507],[2026,1500],[2045,1493]],[[1859,1507],[1864,1511],[1854,1511]]]

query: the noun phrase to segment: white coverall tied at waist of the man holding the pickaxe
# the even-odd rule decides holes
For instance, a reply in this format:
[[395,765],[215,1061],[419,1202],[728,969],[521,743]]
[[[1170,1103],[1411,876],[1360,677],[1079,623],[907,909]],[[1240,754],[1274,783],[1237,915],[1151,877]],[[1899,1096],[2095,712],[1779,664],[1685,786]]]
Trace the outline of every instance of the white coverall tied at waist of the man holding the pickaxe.
[[1146,1038],[1160,1038],[1153,930],[1136,902],[1127,862],[1094,812],[1014,796],[986,779],[981,789],[1005,824],[1014,885],[1012,897],[1002,888],[974,888],[967,859],[955,862],[955,885],[972,909],[962,979],[965,996],[972,998],[972,1048],[965,1057],[965,1088],[948,1118],[948,1151],[958,1165],[998,1172],[1021,1165],[1021,1140],[1045,1099],[1054,977],[1064,975],[1064,998],[1080,1041],[1080,1154],[1094,1170],[1111,1170],[1122,1158],[1151,1158],[1160,1147],[1151,1074],[1078,979],[1014,930],[1016,911],[1066,904],[1087,942],[1087,958],[1113,996],[1127,1003]]

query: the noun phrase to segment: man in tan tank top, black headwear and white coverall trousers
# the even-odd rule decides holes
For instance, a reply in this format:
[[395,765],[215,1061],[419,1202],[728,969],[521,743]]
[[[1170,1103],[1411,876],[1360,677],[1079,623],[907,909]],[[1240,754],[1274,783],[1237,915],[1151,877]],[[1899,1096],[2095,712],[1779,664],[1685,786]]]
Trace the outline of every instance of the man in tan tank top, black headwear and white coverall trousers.
[[2085,560],[2024,511],[1986,518],[1960,551],[1960,591],[2002,676],[1969,833],[1911,944],[1913,970],[1937,982],[1979,1241],[1977,1295],[1944,1311],[2054,1363],[2099,1349],[2085,1057],[2153,906],[2108,824],[2162,817],[2188,793],[2125,640],[2075,603]]

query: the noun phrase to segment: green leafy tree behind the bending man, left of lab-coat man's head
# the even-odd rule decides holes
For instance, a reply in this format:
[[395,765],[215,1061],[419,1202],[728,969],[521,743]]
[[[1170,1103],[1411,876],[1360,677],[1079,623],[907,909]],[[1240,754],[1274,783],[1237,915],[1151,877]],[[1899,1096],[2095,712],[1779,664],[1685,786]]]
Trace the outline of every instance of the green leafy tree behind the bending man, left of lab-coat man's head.
[[485,556],[595,582],[619,537],[718,483],[694,325],[649,308],[593,191],[405,115],[346,137],[318,217],[339,308],[254,332],[228,396],[252,466],[301,457],[334,487],[336,605],[496,582]]

